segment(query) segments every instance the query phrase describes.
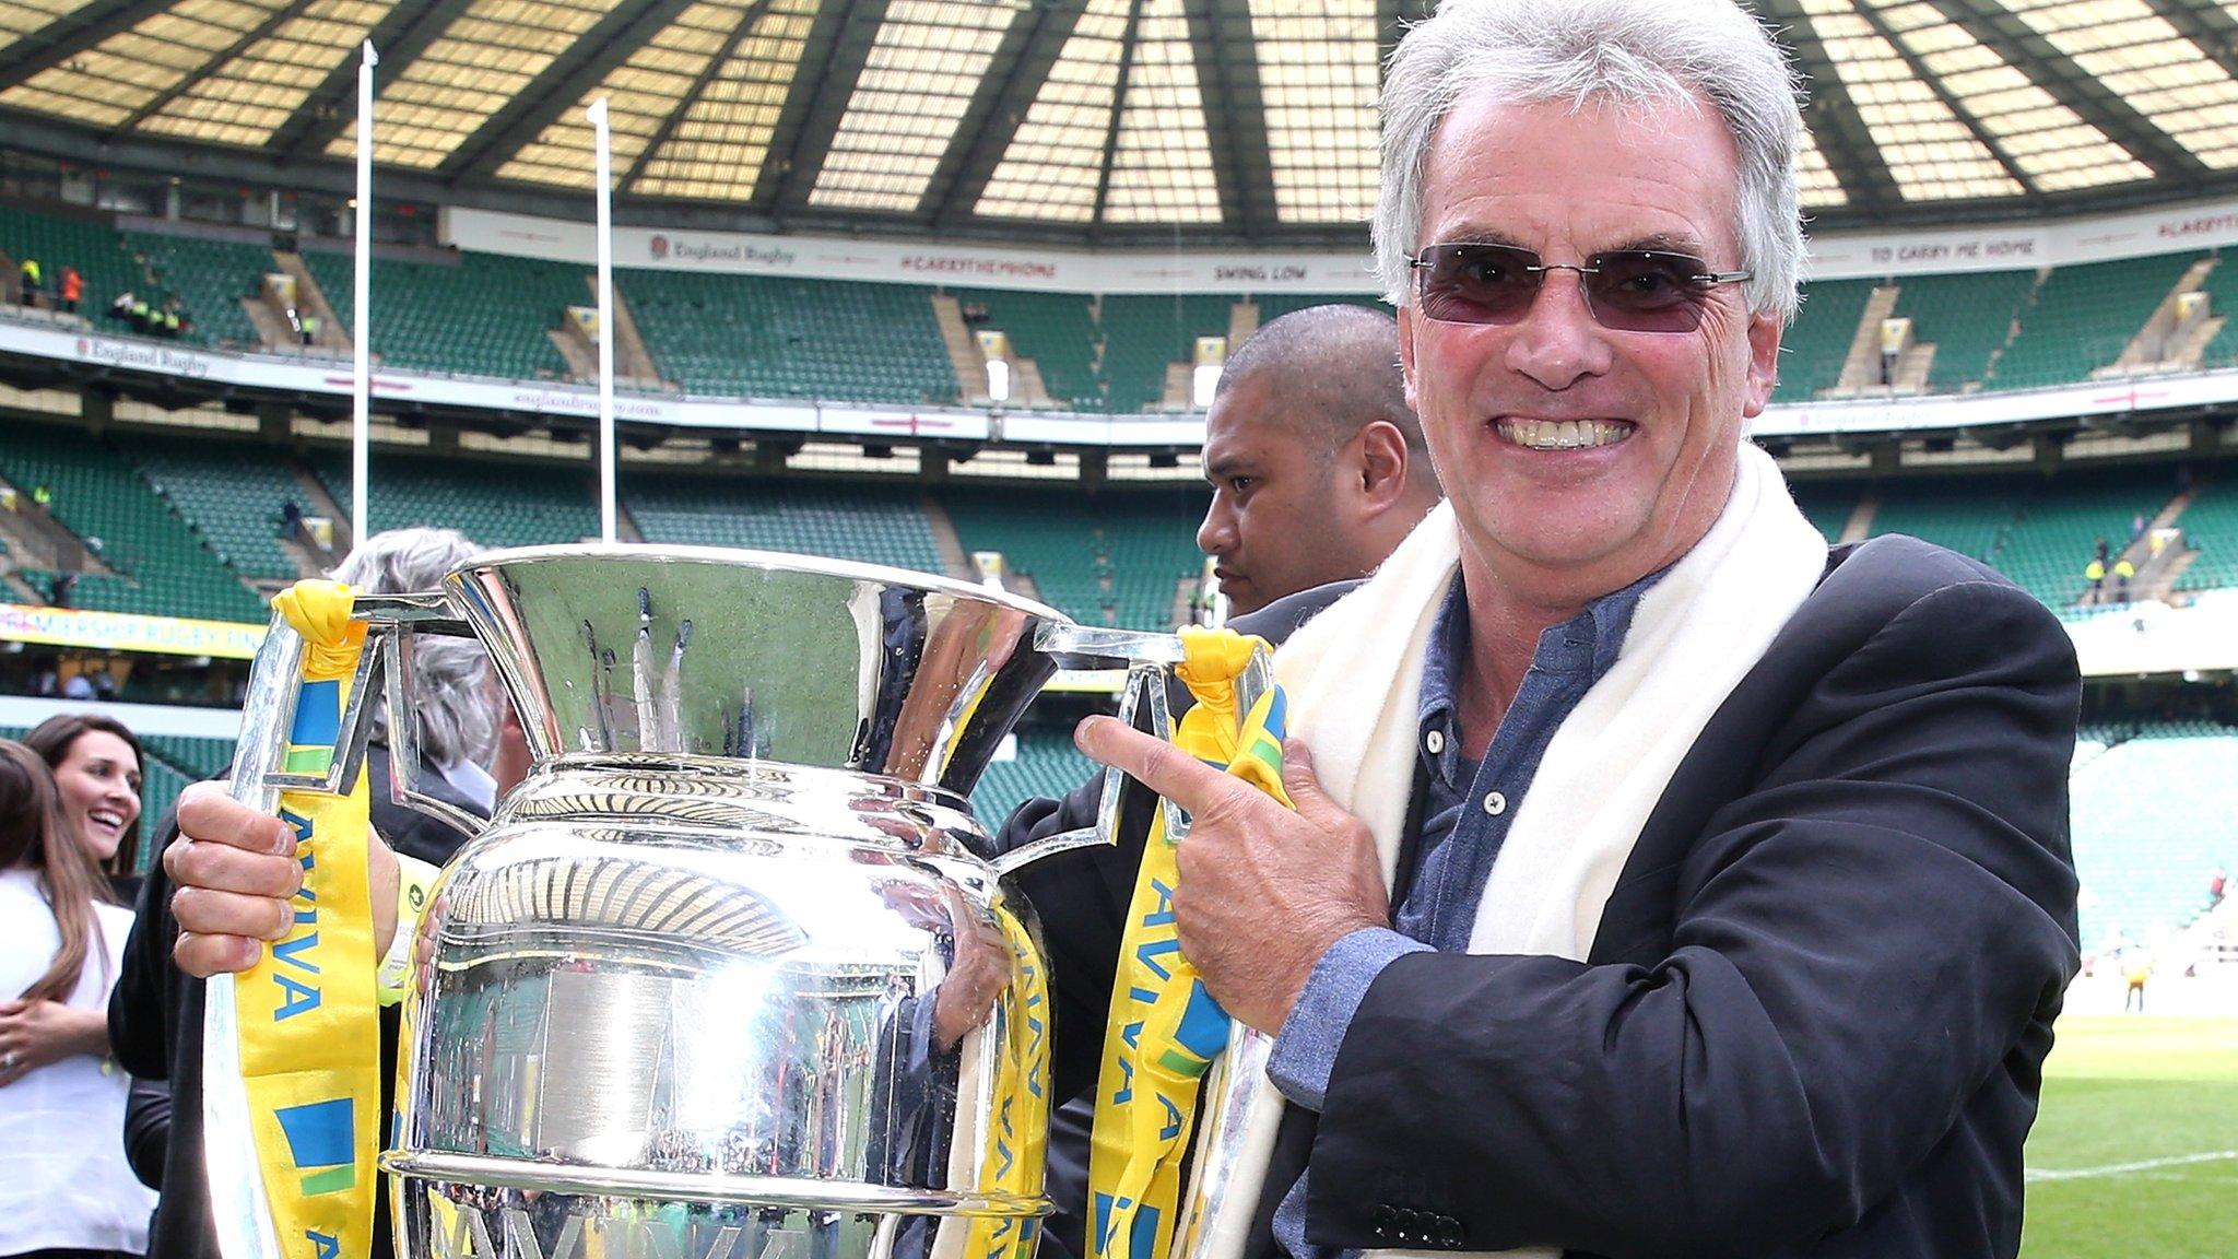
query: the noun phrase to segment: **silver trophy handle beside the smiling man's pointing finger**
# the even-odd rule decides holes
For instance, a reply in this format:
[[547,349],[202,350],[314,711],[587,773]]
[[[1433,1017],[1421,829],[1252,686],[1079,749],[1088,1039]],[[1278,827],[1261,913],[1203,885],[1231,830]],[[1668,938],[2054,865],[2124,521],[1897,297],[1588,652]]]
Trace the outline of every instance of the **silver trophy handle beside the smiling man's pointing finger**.
[[[1056,659],[1059,668],[1099,670],[1126,668],[1126,690],[1119,697],[1119,719],[1137,730],[1173,742],[1173,706],[1166,688],[1173,681],[1173,665],[1186,652],[1173,634],[1144,634],[1139,630],[1106,630],[1097,625],[1045,623],[1034,632],[1034,647]],[[1260,694],[1273,688],[1273,659],[1258,650],[1251,663],[1235,679],[1235,712],[1249,712]],[[1021,845],[994,860],[996,874],[1009,874],[1034,865],[1041,858],[1119,842],[1119,795],[1128,775],[1119,768],[1103,771],[1103,800],[1097,804],[1097,824],[1059,831],[1029,845]],[[1164,795],[1155,795],[1157,813],[1166,822],[1166,833],[1179,842],[1188,833],[1188,813]]]

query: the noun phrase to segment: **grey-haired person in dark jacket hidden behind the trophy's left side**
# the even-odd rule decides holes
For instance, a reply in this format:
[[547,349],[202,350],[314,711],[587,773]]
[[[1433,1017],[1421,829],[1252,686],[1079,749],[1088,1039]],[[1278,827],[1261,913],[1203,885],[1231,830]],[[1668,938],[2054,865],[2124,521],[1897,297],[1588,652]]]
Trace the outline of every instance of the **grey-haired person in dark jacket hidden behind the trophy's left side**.
[[[336,580],[365,591],[427,589],[479,547],[450,529],[392,529],[374,533],[333,571]],[[499,750],[506,719],[504,699],[490,679],[488,654],[474,643],[421,645],[419,791],[450,800],[468,813],[486,815],[495,782],[483,762]],[[383,715],[385,730],[387,715]],[[389,802],[385,755],[367,757],[374,829],[401,851],[445,860],[466,836]],[[163,818],[159,849],[170,847],[177,820]],[[170,1120],[161,1138],[145,1136],[143,1149],[161,1151],[161,1199],[150,1225],[150,1255],[166,1259],[219,1259],[210,1230],[210,1190],[201,1154],[201,979],[181,974],[170,952],[179,925],[170,910],[170,874],[154,862],[141,889],[139,921],[125,945],[125,963],[110,997],[110,1046],[134,1078],[168,1084]],[[383,1017],[383,1080],[394,1075],[396,1017]],[[145,1104],[145,1102],[143,1102]],[[376,1230],[385,1241],[387,1196],[378,1199]]]

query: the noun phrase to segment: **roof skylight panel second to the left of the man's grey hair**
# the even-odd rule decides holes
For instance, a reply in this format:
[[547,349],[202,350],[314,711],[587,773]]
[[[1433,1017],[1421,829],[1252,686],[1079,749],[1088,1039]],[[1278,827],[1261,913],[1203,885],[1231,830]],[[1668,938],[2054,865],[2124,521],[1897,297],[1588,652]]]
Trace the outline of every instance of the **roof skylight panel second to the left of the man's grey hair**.
[[1179,0],[1144,0],[1135,22],[1103,222],[1220,222],[1197,58]]

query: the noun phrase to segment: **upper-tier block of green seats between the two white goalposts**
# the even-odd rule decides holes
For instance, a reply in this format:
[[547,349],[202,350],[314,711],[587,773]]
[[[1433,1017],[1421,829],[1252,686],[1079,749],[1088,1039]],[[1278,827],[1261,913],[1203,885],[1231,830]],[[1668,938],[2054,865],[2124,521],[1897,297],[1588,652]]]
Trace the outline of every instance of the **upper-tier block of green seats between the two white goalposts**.
[[[499,253],[457,258],[457,264],[374,258],[380,363],[506,381],[566,379],[566,358],[546,332],[560,327],[568,305],[591,305],[582,280],[589,267]],[[351,258],[307,251],[302,260],[333,316],[356,327]]]

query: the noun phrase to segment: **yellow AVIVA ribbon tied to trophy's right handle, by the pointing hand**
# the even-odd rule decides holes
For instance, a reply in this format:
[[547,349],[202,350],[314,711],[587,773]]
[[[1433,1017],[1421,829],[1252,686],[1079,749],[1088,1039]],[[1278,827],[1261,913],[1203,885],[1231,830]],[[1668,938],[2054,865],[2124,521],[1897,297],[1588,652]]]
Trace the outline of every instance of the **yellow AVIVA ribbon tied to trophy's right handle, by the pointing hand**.
[[[1282,791],[1285,699],[1269,688],[1238,719],[1235,683],[1262,638],[1184,627],[1175,677],[1195,703],[1173,744],[1291,806]],[[1088,1248],[1094,1259],[1164,1259],[1182,1196],[1182,1156],[1195,1131],[1200,1084],[1226,1048],[1231,1019],[1182,957],[1173,921],[1179,845],[1153,815],[1128,903],[1097,1082],[1088,1158]]]

